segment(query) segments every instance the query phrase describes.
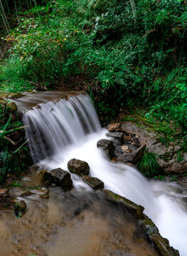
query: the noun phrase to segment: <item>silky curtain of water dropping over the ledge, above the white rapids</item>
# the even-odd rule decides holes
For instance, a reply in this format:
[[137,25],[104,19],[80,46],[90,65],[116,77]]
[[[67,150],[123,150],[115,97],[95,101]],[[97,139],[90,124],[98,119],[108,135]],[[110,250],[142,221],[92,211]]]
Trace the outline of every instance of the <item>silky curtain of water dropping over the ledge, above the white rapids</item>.
[[88,95],[42,103],[23,115],[23,123],[35,162],[63,151],[65,146],[81,143],[86,134],[101,130]]

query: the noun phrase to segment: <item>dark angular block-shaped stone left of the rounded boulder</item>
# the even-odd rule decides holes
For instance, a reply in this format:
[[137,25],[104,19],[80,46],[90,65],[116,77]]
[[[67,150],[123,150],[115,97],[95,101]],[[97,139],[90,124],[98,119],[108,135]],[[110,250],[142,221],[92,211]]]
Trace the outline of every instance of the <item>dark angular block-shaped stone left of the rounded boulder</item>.
[[58,168],[51,170],[49,174],[50,181],[63,188],[64,191],[68,191],[70,188],[72,188],[73,181],[68,171]]

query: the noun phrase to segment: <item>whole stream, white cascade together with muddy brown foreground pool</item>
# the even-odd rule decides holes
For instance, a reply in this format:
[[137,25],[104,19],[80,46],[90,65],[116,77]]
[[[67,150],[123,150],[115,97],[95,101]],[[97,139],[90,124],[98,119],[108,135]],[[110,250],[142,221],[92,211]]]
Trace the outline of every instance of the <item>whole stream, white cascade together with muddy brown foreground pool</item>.
[[[87,161],[90,176],[100,178],[106,189],[144,206],[144,213],[154,221],[161,235],[169,239],[181,256],[186,256],[186,191],[176,183],[149,181],[137,169],[109,161],[97,149],[98,140],[108,139],[107,129],[100,126],[87,95],[39,106],[23,116],[35,163],[49,171],[59,167],[68,171],[70,159]],[[71,177],[70,193],[61,193],[60,188],[54,187],[47,201],[38,201],[36,195],[26,199],[29,210],[23,218],[15,221],[13,213],[8,214],[9,218],[7,212],[1,213],[3,239],[11,239],[12,244],[2,247],[0,255],[14,255],[10,251],[15,246],[15,255],[156,255],[143,237],[138,242],[139,232],[133,237],[136,228],[133,220],[124,216],[123,209],[110,206],[79,176]],[[76,215],[78,208],[84,210]],[[31,249],[33,244],[35,248]]]

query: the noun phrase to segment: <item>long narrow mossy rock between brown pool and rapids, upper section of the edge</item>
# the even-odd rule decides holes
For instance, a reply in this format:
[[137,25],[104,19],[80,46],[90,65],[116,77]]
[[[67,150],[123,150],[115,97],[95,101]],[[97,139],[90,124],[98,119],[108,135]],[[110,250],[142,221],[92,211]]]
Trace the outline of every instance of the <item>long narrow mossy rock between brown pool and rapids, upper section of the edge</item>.
[[136,217],[137,219],[144,218],[143,206],[138,206],[136,203],[133,203],[129,199],[119,196],[116,193],[113,193],[112,191],[104,190],[103,192],[105,193],[105,196],[107,196],[107,198],[122,203],[125,206],[125,208],[127,208],[129,213],[134,215],[134,217]]

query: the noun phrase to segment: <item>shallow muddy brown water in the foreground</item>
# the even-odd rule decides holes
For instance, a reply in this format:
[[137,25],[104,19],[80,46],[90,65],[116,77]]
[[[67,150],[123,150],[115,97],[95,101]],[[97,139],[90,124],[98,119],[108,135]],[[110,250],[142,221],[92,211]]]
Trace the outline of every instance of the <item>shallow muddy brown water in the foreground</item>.
[[28,211],[16,218],[0,212],[1,256],[156,256],[137,220],[101,193],[50,189],[24,199]]

